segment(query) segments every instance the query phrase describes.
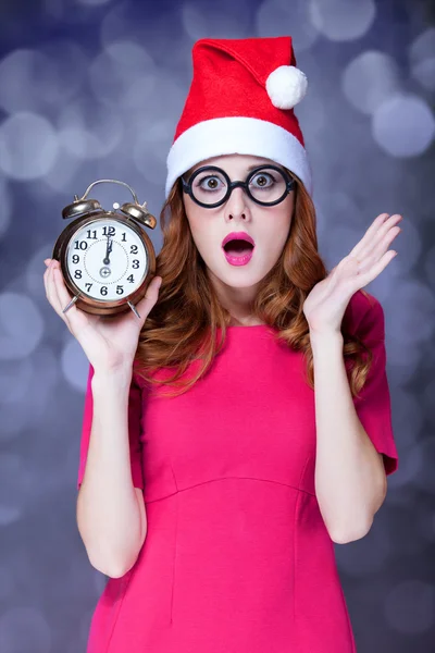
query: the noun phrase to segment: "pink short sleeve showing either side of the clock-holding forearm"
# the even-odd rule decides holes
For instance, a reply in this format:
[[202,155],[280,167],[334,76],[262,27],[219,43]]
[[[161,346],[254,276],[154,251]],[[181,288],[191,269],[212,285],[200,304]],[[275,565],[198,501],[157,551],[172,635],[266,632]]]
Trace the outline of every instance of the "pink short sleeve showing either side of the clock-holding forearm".
[[[79,449],[79,466],[77,477],[77,490],[79,490],[83,477],[85,476],[86,460],[88,455],[90,429],[92,426],[92,387],[91,380],[94,377],[94,368],[89,365],[88,380],[85,395],[85,407],[83,415],[82,439]],[[135,374],[132,378],[128,397],[128,440],[129,440],[129,457],[132,466],[132,479],[135,488],[144,489],[142,475],[142,445],[141,445],[141,415],[142,415],[142,393],[139,384],[135,380]]]

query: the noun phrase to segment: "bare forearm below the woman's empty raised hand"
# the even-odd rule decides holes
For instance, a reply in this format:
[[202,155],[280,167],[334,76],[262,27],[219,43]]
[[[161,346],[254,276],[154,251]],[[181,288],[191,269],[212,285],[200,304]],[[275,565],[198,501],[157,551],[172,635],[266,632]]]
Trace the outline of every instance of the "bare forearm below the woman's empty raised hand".
[[378,453],[357,415],[343,335],[312,335],[316,428],[315,493],[334,541],[363,537],[385,497]]

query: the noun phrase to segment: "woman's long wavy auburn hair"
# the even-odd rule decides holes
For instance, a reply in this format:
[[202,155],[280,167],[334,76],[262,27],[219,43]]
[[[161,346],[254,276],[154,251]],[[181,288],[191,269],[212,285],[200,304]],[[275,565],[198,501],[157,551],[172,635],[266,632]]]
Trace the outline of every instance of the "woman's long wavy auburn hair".
[[[252,313],[277,329],[274,333],[278,341],[303,354],[306,382],[314,389],[313,356],[302,306],[313,286],[328,272],[318,251],[313,201],[301,180],[285,170],[296,181],[294,215],[278,260],[260,282]],[[232,316],[220,304],[192,239],[179,177],[162,207],[160,226],[163,246],[157,256],[156,275],[162,278],[162,285],[139,334],[134,370],[150,385],[178,389],[164,393],[174,397],[187,392],[207,373],[224,345]],[[216,340],[217,329],[221,329],[220,340]],[[350,362],[347,373],[351,394],[359,397],[373,354],[356,334],[346,332],[344,325],[341,333],[345,360]],[[194,366],[194,361],[198,362]],[[186,379],[189,366],[195,371]],[[156,378],[154,373],[163,368],[173,373]]]

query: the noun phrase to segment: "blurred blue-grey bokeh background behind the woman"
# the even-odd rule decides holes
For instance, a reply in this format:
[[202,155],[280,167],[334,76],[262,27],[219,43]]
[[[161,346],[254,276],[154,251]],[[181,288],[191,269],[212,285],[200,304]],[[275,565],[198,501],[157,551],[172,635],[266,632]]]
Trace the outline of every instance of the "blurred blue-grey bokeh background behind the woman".
[[[195,40],[281,35],[309,79],[296,114],[326,264],[378,213],[403,215],[398,257],[366,286],[399,469],[370,533],[335,549],[359,653],[435,651],[434,23],[421,0],[1,1],[1,653],[84,652],[107,581],[75,521],[88,362],[42,282],[62,208],[114,177],[158,217]],[[130,197],[95,192],[107,208]]]

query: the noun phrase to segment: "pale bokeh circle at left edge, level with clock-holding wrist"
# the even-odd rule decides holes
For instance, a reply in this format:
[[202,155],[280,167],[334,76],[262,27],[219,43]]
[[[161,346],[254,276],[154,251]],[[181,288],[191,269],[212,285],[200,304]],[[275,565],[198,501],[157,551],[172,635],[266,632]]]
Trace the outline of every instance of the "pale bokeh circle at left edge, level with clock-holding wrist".
[[0,294],[0,360],[25,358],[44,335],[39,309],[26,295]]

